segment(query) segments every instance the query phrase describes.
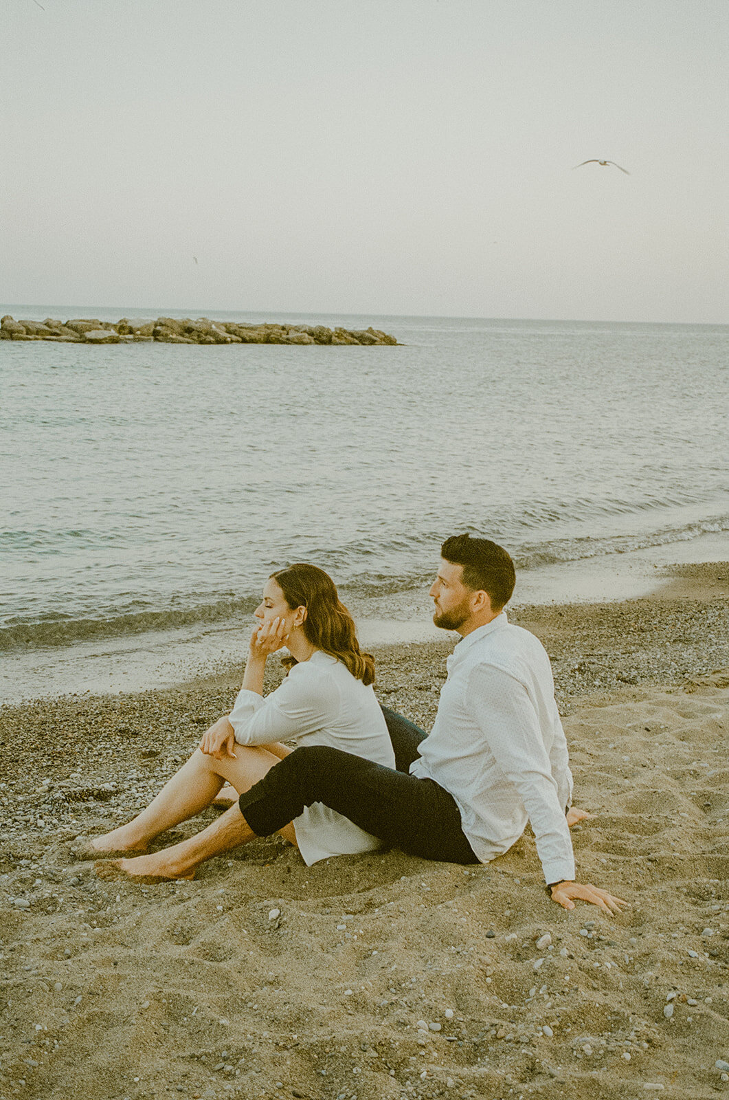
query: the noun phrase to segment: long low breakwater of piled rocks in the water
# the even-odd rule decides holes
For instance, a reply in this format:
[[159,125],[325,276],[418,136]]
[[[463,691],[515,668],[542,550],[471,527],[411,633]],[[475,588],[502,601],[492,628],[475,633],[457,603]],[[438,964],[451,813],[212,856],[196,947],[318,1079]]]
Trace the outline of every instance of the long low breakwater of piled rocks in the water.
[[330,329],[325,324],[244,324],[238,321],[196,320],[187,317],[158,317],[156,321],[99,321],[75,318],[57,321],[14,320],[7,314],[0,320],[0,340],[53,340],[58,343],[283,343],[283,344],[397,344],[395,337],[379,329]]

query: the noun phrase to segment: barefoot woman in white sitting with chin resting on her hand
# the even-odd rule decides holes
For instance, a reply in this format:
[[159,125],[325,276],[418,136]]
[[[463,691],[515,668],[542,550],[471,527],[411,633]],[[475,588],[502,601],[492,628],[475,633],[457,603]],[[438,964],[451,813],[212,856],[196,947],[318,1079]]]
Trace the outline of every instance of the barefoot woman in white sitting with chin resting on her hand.
[[[243,686],[228,717],[202,737],[200,747],[154,801],[128,825],[87,840],[77,858],[144,853],[165,829],[209,806],[228,781],[239,794],[262,779],[299,745],[328,745],[395,767],[393,746],[373,690],[375,662],[362,653],[352,616],[331,578],[316,565],[273,573],[255,610]],[[266,658],[288,648],[284,682],[263,697]],[[379,846],[346,817],[321,803],[280,831],[310,865],[328,856]]]

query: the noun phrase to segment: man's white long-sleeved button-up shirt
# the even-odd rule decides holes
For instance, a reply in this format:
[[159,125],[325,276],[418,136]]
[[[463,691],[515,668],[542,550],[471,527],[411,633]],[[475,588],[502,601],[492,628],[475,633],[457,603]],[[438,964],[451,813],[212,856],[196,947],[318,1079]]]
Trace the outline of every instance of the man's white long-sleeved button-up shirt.
[[533,634],[501,612],[466,635],[448,659],[435,723],[419,748],[410,772],[453,795],[482,862],[507,851],[529,821],[545,881],[574,879],[567,743],[550,660]]

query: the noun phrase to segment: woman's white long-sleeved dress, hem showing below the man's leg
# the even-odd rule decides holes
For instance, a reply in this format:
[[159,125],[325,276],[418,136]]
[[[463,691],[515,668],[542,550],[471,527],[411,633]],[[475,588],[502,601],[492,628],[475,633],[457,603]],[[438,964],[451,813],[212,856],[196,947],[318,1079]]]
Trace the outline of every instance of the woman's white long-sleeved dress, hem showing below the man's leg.
[[[239,745],[329,745],[395,767],[393,745],[372,685],[365,686],[341,661],[320,649],[308,661],[295,664],[265,698],[241,689],[229,721]],[[329,856],[369,851],[380,843],[321,802],[307,806],[294,828],[308,866]]]

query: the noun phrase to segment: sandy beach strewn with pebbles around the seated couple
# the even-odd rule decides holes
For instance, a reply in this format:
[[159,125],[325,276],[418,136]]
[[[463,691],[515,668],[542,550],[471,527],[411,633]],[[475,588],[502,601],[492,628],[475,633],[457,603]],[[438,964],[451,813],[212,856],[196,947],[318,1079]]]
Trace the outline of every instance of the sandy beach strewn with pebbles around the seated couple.
[[[191,883],[99,881],[70,842],[148,801],[240,668],[3,708],[0,1097],[728,1093],[728,606],[711,564],[650,600],[519,609],[594,814],[578,875],[632,903],[612,920],[546,898],[530,836],[475,869],[307,868],[259,840]],[[378,652],[383,702],[428,728],[451,648]]]

